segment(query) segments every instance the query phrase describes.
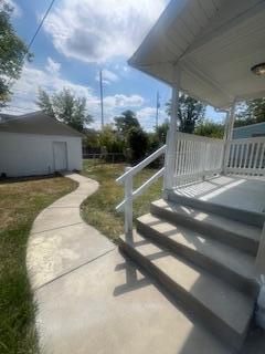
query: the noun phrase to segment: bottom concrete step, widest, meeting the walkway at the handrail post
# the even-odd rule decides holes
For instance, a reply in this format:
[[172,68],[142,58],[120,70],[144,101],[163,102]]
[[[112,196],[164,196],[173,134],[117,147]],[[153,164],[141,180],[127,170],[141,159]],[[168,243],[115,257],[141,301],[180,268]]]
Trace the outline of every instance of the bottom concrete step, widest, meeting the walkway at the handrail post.
[[253,299],[137,232],[132,240],[121,237],[120,248],[222,341],[235,350],[241,347]]

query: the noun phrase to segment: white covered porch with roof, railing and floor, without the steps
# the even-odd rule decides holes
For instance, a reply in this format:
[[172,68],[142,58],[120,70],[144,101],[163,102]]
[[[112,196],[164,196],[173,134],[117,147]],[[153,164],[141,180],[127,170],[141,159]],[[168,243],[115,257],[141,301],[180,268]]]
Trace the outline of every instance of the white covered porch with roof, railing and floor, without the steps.
[[[172,87],[170,128],[160,149],[165,167],[131,191],[131,199],[163,175],[165,199],[174,195],[179,201],[203,201],[209,209],[218,205],[242,210],[247,220],[256,218],[263,227],[265,137],[232,137],[237,104],[265,96],[264,23],[265,2],[259,0],[174,0],[168,4],[129,60],[131,66]],[[224,112],[223,139],[179,132],[180,93]],[[140,166],[158,156],[159,152]],[[125,179],[134,176],[132,170]],[[259,266],[264,273],[265,252],[262,259],[259,253]]]

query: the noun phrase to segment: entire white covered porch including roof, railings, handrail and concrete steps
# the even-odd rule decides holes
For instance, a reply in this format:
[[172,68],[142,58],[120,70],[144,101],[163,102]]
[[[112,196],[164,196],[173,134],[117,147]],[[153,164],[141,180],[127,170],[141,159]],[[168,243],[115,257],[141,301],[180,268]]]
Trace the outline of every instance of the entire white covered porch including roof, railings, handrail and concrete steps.
[[[171,1],[129,61],[172,87],[167,144],[117,179],[121,250],[236,352],[256,302],[265,329],[265,137],[232,139],[237,103],[265,96],[264,37],[264,1]],[[179,132],[180,93],[226,114],[223,139]],[[134,190],[134,176],[163,154]],[[162,198],[134,230],[134,199],[160,177]]]

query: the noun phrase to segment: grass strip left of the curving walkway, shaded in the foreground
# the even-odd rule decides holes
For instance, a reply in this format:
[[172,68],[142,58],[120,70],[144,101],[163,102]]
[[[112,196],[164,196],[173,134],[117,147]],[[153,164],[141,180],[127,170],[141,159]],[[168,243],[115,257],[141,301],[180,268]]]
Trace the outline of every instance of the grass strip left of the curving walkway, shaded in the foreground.
[[25,268],[36,215],[76,187],[63,177],[0,181],[0,353],[38,353],[35,305]]

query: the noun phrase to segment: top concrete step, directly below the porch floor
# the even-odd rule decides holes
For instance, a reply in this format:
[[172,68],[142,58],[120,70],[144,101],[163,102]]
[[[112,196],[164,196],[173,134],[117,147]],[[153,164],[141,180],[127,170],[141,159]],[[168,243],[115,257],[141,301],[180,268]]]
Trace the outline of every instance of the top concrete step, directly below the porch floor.
[[244,252],[253,256],[257,253],[262,233],[258,227],[163,199],[151,204],[151,214],[170,222],[187,226]]

